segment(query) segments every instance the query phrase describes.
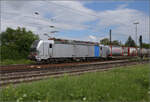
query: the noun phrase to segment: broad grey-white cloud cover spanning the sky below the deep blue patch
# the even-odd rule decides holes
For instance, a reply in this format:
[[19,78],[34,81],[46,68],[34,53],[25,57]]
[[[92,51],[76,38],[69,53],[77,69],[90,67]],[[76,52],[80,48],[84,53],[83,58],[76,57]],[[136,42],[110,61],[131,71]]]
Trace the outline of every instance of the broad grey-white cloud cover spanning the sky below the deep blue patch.
[[[148,41],[149,16],[127,7],[123,4],[113,10],[94,11],[80,1],[1,1],[1,29],[21,26],[43,37],[44,33],[54,30],[50,25],[60,31],[87,31],[92,28],[97,35],[89,34],[80,39],[97,41],[108,36],[105,29],[112,29],[113,39],[126,40],[129,35],[135,36],[133,23],[138,21],[138,35],[142,34],[144,41]],[[39,15],[34,12],[39,12]],[[91,22],[95,23],[94,26]],[[102,33],[105,34],[103,37],[98,35]]]

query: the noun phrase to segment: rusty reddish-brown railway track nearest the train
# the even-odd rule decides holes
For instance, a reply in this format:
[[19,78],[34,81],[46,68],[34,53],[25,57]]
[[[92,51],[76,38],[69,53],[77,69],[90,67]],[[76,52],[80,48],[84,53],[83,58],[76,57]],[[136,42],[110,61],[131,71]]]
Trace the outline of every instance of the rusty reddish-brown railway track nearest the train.
[[[136,58],[136,57],[135,57]],[[113,57],[112,59],[110,59],[111,61],[115,61],[115,60],[125,60],[125,59],[130,59],[130,57],[127,56],[120,56],[120,57]],[[133,59],[133,57],[132,57]],[[99,59],[99,60],[94,60],[94,61],[85,61],[85,62],[65,62],[65,63],[51,63],[51,64],[19,64],[19,65],[4,65],[4,66],[0,66],[0,72],[14,72],[14,71],[24,71],[24,70],[32,70],[32,69],[37,69],[37,68],[47,68],[47,67],[55,67],[55,66],[65,66],[65,65],[74,65],[74,64],[86,64],[86,63],[92,63],[92,62],[106,62],[106,61],[110,61],[110,60],[104,60],[104,59]]]

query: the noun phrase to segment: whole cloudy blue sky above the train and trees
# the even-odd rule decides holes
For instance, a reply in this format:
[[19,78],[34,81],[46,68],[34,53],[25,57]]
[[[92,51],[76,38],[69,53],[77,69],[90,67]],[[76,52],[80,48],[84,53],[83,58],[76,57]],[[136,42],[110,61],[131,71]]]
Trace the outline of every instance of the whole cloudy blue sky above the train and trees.
[[40,39],[99,42],[109,38],[111,29],[112,40],[124,43],[128,36],[136,39],[133,23],[139,22],[138,37],[150,40],[150,0],[1,0],[0,4],[1,32],[25,27]]

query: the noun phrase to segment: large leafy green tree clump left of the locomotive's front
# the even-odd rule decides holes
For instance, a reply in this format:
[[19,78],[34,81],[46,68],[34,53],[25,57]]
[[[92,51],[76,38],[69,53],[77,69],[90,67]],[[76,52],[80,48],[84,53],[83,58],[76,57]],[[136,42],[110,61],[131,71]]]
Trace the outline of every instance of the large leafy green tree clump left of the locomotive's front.
[[0,34],[1,59],[26,58],[33,41],[39,37],[25,28],[7,28]]

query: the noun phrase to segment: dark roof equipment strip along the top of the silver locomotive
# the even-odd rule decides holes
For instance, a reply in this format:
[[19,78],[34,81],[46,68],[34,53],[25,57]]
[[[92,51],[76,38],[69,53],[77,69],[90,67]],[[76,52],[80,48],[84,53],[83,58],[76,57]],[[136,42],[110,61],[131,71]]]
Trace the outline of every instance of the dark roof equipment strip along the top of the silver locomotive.
[[80,45],[99,45],[97,42],[89,42],[89,41],[77,41],[77,40],[66,40],[66,39],[58,39],[58,38],[49,38],[48,40],[54,40],[57,44],[80,44]]

